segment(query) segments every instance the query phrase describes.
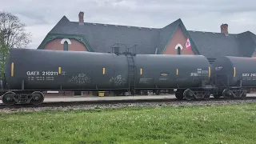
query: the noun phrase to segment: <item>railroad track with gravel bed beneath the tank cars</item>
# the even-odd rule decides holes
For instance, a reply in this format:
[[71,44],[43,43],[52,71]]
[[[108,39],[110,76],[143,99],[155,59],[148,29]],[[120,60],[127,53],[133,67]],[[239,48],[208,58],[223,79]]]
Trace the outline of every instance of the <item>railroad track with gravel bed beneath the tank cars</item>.
[[231,102],[246,102],[250,100],[255,100],[256,97],[246,97],[245,99],[235,98],[235,99],[226,99],[226,98],[209,98],[208,100],[178,100],[176,98],[164,98],[164,99],[127,99],[127,100],[96,100],[96,101],[76,101],[76,102],[43,102],[41,105],[35,106],[32,104],[17,104],[14,106],[6,106],[0,104],[1,109],[20,109],[20,108],[42,108],[42,107],[67,107],[67,106],[101,106],[101,105],[116,105],[116,104],[134,104],[134,103],[169,103],[172,104],[211,104],[211,103],[231,103]]

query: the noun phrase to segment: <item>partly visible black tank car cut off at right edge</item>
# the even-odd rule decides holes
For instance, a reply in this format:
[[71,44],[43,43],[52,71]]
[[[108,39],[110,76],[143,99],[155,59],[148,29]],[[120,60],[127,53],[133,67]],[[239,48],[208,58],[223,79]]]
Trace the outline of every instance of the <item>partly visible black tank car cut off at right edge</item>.
[[225,56],[212,66],[212,83],[218,88],[215,98],[246,98],[256,86],[256,58]]

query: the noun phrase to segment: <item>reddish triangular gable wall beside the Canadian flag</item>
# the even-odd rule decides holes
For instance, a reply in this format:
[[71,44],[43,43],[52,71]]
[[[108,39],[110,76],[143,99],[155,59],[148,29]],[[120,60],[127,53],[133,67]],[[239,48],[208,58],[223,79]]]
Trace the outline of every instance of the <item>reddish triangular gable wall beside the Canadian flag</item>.
[[182,32],[182,29],[180,26],[178,26],[177,30],[174,32],[173,37],[170,39],[170,42],[166,46],[166,50],[163,52],[163,54],[178,54],[178,50],[175,50],[175,46],[178,44],[182,45],[181,54],[190,54],[194,55],[193,50],[185,50],[186,46],[186,37]]

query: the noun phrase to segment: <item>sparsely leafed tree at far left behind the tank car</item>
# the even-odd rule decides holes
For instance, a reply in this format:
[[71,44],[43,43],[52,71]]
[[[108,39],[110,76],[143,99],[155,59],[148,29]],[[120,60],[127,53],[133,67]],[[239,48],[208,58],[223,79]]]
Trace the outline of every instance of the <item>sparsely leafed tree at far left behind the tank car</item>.
[[6,11],[0,11],[0,79],[3,77],[6,58],[11,48],[26,48],[30,43],[30,33],[21,20]]

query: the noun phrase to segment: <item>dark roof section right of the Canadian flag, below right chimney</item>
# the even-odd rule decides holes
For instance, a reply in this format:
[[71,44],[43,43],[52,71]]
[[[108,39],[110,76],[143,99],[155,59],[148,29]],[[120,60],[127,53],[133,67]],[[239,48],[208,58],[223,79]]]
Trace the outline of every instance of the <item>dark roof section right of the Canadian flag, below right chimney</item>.
[[190,36],[202,55],[207,58],[218,58],[220,56],[250,57],[255,50],[256,43],[253,41],[252,33],[241,34],[191,31]]

